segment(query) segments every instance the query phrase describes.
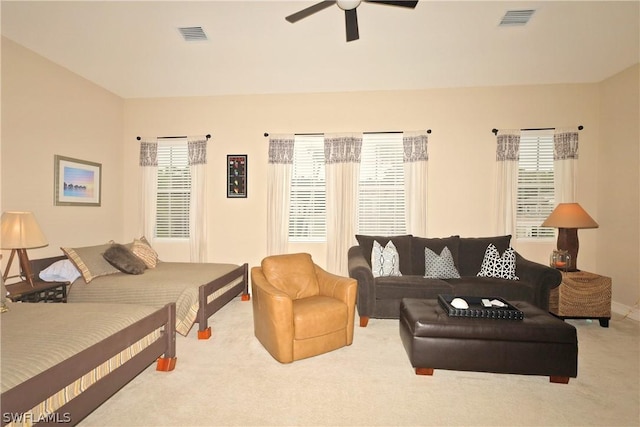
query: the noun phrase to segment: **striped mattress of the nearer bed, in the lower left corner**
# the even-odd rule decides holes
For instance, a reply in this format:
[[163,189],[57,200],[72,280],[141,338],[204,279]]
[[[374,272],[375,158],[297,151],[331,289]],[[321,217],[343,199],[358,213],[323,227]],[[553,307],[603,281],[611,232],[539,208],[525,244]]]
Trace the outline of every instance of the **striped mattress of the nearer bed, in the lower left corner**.
[[[9,310],[0,315],[2,393],[156,311],[133,304],[7,302],[7,306]],[[26,421],[53,413],[160,337],[157,329],[102,365],[88,366],[81,378],[34,407]]]

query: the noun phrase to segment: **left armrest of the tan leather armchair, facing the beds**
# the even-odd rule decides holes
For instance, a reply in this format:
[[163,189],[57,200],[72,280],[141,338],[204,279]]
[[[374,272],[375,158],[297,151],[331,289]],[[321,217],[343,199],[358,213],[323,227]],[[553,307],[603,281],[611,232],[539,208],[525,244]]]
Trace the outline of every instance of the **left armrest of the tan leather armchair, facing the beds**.
[[293,301],[267,281],[260,267],[251,269],[251,294],[256,337],[271,354],[293,361]]

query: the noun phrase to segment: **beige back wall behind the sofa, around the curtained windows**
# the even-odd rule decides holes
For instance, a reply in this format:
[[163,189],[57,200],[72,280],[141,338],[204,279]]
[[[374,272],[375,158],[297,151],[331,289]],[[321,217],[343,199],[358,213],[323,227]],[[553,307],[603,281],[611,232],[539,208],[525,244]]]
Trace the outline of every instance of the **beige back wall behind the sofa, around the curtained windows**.
[[[397,92],[225,96],[189,99],[139,99],[125,102],[125,181],[137,176],[135,137],[211,133],[209,194],[212,260],[260,262],[266,252],[267,138],[263,133],[386,131],[430,128],[430,236],[492,235],[495,187],[495,136],[491,129],[577,126],[581,163],[597,169],[598,86],[550,85]],[[226,154],[249,155],[246,200],[227,199]],[[580,202],[597,218],[596,175],[581,175]],[[136,212],[139,194],[125,193],[125,210]],[[139,216],[125,222],[139,231]],[[595,269],[597,231],[583,233],[581,263]],[[555,242],[518,249],[548,262]],[[166,257],[186,257],[166,249]],[[324,245],[296,245],[320,264]],[[346,255],[345,255],[346,256]]]

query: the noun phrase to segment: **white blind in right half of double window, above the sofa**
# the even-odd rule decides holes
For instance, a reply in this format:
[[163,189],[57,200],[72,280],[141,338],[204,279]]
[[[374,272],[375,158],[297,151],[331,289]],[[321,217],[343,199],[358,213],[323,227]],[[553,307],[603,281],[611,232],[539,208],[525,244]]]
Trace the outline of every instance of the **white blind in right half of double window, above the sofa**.
[[358,233],[406,233],[402,133],[367,133],[362,139]]

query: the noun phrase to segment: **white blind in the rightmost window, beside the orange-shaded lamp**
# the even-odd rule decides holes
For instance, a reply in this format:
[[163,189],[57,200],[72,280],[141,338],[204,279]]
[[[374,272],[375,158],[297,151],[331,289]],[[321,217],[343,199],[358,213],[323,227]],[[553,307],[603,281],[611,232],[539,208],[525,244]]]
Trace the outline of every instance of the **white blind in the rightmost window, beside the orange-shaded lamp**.
[[516,237],[553,238],[554,229],[541,227],[555,207],[553,130],[522,131],[518,163]]

